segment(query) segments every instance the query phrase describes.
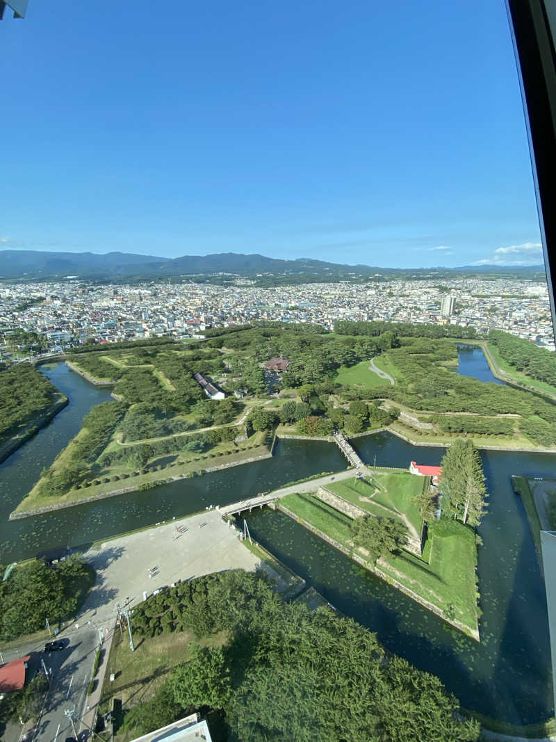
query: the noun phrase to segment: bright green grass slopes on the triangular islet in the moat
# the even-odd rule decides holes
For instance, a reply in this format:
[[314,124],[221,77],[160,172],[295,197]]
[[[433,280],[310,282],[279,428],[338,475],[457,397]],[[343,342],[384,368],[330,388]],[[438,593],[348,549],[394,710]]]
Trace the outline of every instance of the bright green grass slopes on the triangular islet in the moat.
[[[390,479],[394,476],[403,476],[406,479],[408,475],[387,476]],[[389,496],[388,499],[395,502],[396,508],[411,497],[408,493],[401,496],[400,490],[394,491],[394,487],[388,489],[386,497]],[[345,493],[345,490],[342,491]],[[386,497],[382,495],[384,501]],[[352,521],[348,516],[311,495],[288,495],[280,502],[300,519],[348,548],[351,553],[365,558],[361,549],[354,546],[351,538]],[[357,505],[370,511],[370,506],[365,501],[357,500]],[[385,515],[384,511],[380,514]],[[387,581],[392,578],[400,582],[423,601],[436,606],[446,620],[457,620],[475,631],[478,620],[476,564],[474,532],[459,522],[440,521],[429,527],[423,557],[401,551],[397,555],[381,557],[375,568],[380,577]]]

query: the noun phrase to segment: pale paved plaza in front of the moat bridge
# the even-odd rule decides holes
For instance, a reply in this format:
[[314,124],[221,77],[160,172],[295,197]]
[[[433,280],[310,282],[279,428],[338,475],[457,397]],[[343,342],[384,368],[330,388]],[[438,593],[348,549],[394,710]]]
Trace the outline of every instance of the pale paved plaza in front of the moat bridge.
[[96,569],[97,579],[77,623],[90,620],[97,628],[107,628],[116,617],[116,606],[133,608],[142,602],[144,591],[150,594],[210,572],[254,570],[259,559],[237,535],[216,510],[208,510],[90,549],[83,557]]

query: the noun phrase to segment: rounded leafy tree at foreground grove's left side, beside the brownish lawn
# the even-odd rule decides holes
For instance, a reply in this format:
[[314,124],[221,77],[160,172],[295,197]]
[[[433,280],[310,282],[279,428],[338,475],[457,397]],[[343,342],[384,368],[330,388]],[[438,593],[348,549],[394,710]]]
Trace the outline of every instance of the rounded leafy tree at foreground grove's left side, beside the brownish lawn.
[[230,670],[222,647],[190,645],[191,660],[179,665],[171,675],[176,703],[222,709],[230,696]]

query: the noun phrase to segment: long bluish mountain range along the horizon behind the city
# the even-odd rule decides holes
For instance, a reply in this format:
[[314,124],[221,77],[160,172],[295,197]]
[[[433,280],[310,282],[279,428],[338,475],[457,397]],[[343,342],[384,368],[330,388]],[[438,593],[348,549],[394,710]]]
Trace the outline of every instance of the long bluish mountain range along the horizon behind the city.
[[265,255],[222,252],[215,255],[154,257],[125,252],[0,251],[0,280],[60,280],[76,276],[84,280],[122,282],[159,278],[195,277],[226,283],[234,276],[252,278],[258,285],[304,283],[317,280],[368,280],[377,278],[435,278],[492,273],[520,278],[543,278],[544,266],[463,266],[461,268],[395,269],[348,266],[323,260],[279,260]]

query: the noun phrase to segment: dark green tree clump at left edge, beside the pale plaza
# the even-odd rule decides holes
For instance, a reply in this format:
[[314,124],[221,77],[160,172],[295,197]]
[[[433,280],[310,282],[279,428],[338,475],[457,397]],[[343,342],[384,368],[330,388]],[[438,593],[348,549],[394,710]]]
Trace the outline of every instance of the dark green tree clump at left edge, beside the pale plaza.
[[[0,566],[3,577],[5,566]],[[0,581],[0,639],[10,640],[72,617],[93,585],[94,574],[78,557],[47,567],[16,566]]]

